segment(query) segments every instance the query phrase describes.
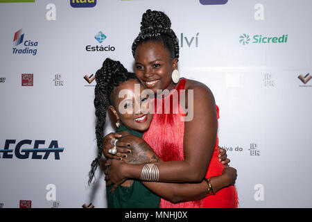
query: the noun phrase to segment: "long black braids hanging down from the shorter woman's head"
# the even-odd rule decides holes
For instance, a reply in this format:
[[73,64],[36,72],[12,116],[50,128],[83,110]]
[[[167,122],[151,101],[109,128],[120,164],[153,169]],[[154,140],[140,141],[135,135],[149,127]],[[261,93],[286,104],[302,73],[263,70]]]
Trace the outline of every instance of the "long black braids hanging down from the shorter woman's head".
[[[94,178],[94,173],[100,164],[99,160],[103,154],[103,138],[104,138],[104,125],[106,118],[106,110],[109,105],[112,105],[110,101],[110,95],[114,87],[119,86],[120,83],[124,83],[130,79],[137,79],[135,74],[128,72],[125,67],[119,61],[106,58],[103,62],[101,69],[96,71],[95,75],[96,87],[94,89],[94,107],[96,109],[95,114],[96,121],[96,144],[98,147],[98,155],[91,164],[91,170],[89,171],[90,185]],[[138,79],[137,79],[138,80]],[[138,80],[139,81],[139,80]]]

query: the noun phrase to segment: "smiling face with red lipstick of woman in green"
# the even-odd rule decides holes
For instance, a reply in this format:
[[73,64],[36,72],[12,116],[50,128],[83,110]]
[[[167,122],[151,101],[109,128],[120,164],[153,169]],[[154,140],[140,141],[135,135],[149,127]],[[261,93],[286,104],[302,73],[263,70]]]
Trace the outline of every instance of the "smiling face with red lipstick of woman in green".
[[127,128],[144,131],[150,127],[153,114],[148,112],[148,94],[137,80],[131,79],[115,87],[111,101],[110,109]]

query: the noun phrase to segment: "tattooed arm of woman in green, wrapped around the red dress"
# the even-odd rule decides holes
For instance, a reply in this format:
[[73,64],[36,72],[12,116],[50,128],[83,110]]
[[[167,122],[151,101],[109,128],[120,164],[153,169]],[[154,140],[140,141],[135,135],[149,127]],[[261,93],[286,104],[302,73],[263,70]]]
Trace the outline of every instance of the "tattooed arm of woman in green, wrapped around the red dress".
[[[152,148],[146,144],[144,139],[128,135],[121,139],[121,142],[128,142],[132,144],[130,148],[131,153],[128,157],[123,159],[123,162],[129,164],[141,164],[151,162],[162,162],[162,160],[155,154]],[[118,161],[118,160],[114,160]],[[121,162],[121,161],[118,161]],[[226,161],[227,164],[228,161]],[[107,171],[105,171],[107,173]],[[109,176],[105,177],[108,180]],[[228,185],[234,185],[236,180],[236,170],[232,167],[225,167],[221,176],[211,178],[211,185],[214,191],[218,191]],[[142,182],[148,189],[153,191],[158,196],[171,201],[172,203],[199,200],[207,195],[208,185],[205,180],[200,183],[167,183],[167,182]],[[111,182],[107,181],[107,186]],[[112,188],[114,191],[116,187]]]

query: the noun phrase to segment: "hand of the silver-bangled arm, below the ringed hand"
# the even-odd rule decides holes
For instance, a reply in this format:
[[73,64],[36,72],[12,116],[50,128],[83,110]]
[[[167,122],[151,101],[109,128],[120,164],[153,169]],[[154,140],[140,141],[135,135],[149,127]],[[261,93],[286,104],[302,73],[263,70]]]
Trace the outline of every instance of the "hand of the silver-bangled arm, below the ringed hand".
[[125,162],[122,160],[110,159],[107,160],[105,163],[106,170],[105,173],[105,180],[106,180],[106,187],[110,187],[110,185],[114,184],[110,193],[114,193],[116,188],[121,185],[127,178],[123,176],[123,166]]

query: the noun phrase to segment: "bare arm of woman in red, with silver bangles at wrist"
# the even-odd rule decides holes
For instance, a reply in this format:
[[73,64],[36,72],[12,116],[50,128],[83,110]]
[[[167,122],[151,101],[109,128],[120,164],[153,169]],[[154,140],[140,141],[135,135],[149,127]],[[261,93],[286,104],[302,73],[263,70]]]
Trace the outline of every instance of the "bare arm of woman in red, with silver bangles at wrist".
[[[159,169],[160,182],[201,182],[214,150],[218,125],[214,96],[201,83],[192,83],[187,89],[193,90],[193,99],[188,99],[186,95],[190,110],[188,115],[193,115],[193,119],[184,123],[184,160],[155,163]],[[110,180],[118,185],[125,178],[140,179],[143,167],[144,164],[120,164],[114,167],[113,162]]]

